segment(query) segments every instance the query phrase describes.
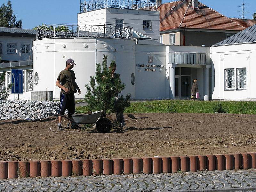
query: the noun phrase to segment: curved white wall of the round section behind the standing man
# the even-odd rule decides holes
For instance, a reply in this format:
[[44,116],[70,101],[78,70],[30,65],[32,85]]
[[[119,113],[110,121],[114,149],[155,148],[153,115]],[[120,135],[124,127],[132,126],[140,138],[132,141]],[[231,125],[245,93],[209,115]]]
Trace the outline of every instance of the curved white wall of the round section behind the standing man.
[[[105,46],[104,46],[105,45]],[[90,76],[95,75],[96,63],[102,63],[103,54],[108,55],[108,65],[111,60],[117,64],[117,73],[126,84],[122,94],[135,95],[135,86],[131,84],[131,74],[135,73],[135,41],[127,39],[100,38],[57,38],[33,41],[33,76],[38,73],[38,84],[33,85],[33,91],[53,91],[53,97],[60,97],[60,89],[55,85],[61,70],[66,67],[66,60],[72,58],[76,66],[76,83],[82,94],[76,98],[84,98],[85,84]],[[125,74],[127,75],[124,75]]]

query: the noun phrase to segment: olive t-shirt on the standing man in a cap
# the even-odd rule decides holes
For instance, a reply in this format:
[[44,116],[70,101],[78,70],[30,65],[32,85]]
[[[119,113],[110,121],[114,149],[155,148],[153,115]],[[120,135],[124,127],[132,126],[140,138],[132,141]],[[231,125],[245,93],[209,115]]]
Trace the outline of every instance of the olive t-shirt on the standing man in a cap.
[[[70,91],[70,93],[76,93],[76,83],[75,83],[75,73],[72,70],[67,70],[67,69],[63,69],[57,80],[59,80],[61,82],[61,85],[63,87],[68,88],[68,90]],[[65,93],[65,91],[63,89],[61,89],[62,93]]]

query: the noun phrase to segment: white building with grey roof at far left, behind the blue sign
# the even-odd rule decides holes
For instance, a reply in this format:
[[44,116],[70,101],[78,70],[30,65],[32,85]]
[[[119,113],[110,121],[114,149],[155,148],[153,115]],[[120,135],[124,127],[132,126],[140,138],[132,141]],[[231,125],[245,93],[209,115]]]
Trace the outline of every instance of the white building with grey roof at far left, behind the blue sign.
[[[30,99],[32,92],[33,53],[31,48],[35,39],[36,30],[0,27],[0,73],[7,72],[0,89],[3,90],[11,83],[11,68],[22,68],[24,70],[24,94],[20,95],[19,99]],[[8,99],[14,99],[14,95],[10,95]]]

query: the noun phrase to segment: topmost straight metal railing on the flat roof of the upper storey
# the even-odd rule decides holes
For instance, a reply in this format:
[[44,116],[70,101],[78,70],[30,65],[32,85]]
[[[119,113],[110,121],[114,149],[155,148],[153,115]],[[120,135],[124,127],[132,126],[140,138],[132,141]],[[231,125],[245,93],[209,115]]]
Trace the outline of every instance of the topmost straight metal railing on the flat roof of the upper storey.
[[156,0],[92,0],[80,1],[80,12],[102,8],[156,10]]

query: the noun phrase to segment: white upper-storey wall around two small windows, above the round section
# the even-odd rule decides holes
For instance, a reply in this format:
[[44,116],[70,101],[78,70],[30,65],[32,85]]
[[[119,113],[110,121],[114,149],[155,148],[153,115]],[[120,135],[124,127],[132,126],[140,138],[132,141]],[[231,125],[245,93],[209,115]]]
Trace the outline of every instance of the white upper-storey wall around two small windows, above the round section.
[[[116,25],[116,19],[124,19],[125,26],[159,41],[159,11],[104,8],[77,15],[79,24]],[[143,20],[151,20],[151,30],[143,29]]]

